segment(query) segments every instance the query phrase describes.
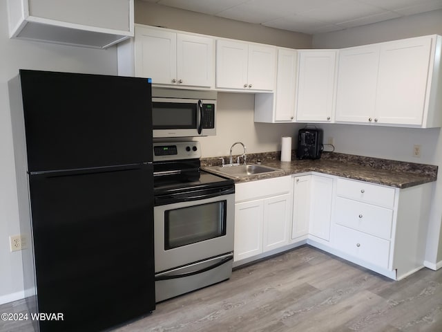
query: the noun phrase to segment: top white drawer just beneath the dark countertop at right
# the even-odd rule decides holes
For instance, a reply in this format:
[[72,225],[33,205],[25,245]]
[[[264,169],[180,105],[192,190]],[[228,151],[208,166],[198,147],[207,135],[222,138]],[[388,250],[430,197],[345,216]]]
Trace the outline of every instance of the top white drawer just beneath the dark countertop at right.
[[338,178],[336,193],[347,199],[355,199],[385,208],[394,207],[395,190],[392,187],[381,187],[361,181]]

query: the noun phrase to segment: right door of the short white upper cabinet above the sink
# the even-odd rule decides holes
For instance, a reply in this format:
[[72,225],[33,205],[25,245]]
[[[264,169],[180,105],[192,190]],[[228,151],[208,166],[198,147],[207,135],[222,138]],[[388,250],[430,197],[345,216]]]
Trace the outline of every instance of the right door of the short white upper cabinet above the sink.
[[276,48],[249,45],[247,88],[252,90],[275,89]]

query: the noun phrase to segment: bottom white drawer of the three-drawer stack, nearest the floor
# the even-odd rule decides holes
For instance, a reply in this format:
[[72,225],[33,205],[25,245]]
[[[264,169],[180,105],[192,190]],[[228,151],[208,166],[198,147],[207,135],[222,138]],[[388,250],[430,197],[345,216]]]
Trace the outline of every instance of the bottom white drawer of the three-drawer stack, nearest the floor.
[[369,264],[388,269],[390,241],[334,225],[335,248]]

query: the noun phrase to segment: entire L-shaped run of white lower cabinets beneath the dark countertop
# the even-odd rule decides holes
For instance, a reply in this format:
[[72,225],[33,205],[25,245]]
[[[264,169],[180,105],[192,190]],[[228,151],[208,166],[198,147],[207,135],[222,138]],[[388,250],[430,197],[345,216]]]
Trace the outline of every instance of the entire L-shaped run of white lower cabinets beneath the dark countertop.
[[399,189],[316,172],[239,183],[234,265],[308,243],[402,279],[423,267],[433,187]]

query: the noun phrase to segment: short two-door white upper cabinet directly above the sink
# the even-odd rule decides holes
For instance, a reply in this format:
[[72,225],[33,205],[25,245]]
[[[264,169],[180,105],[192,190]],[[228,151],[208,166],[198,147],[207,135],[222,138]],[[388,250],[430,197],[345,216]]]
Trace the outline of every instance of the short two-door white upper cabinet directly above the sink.
[[276,47],[228,39],[216,42],[216,87],[236,91],[273,91]]

